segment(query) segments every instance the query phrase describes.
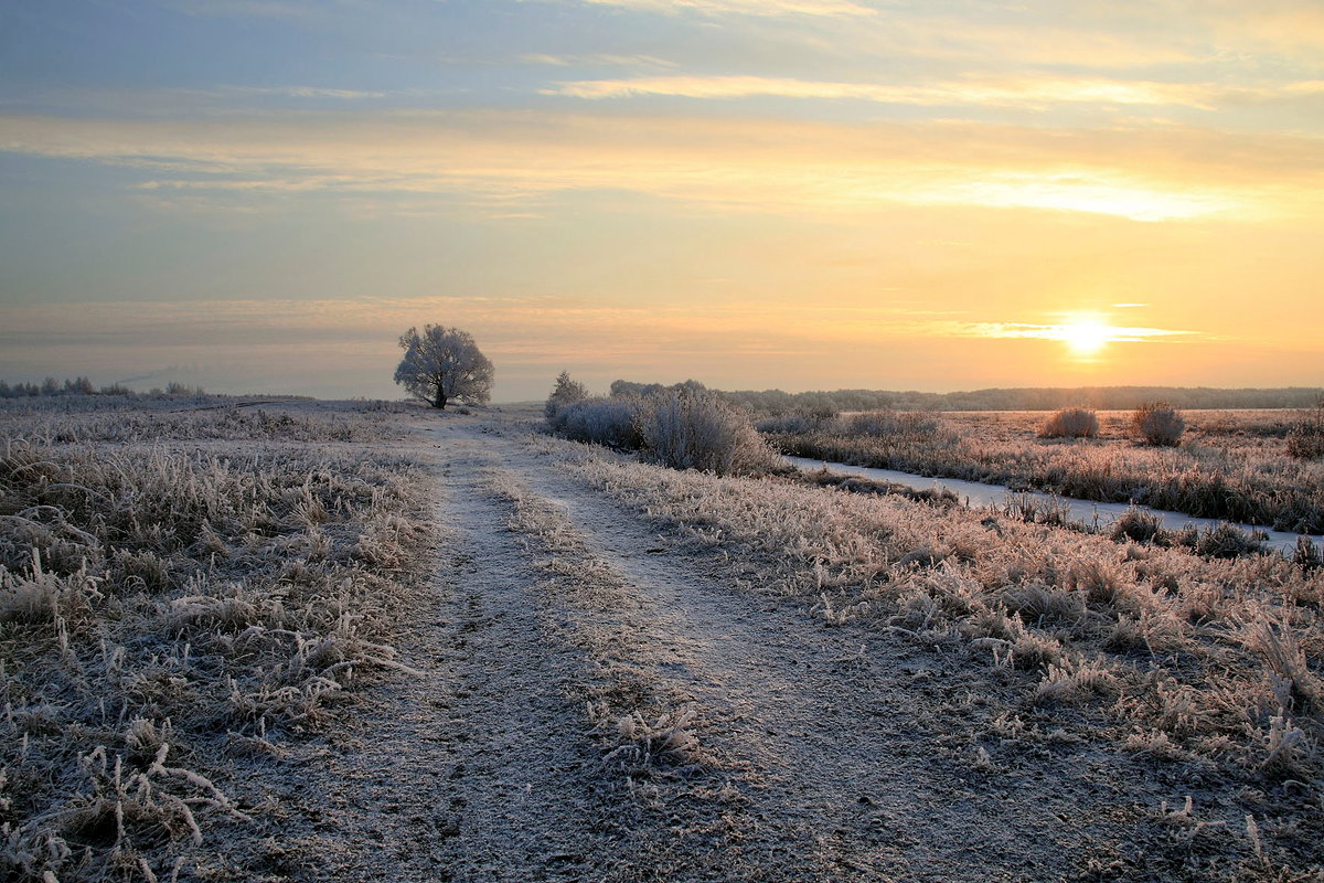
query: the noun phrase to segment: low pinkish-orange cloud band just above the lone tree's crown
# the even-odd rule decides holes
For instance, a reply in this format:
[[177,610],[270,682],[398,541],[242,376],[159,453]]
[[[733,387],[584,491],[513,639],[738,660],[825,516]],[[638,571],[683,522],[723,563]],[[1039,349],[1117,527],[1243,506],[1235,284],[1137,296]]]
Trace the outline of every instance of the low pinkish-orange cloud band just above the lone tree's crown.
[[[572,297],[425,297],[312,301],[236,299],[25,304],[0,307],[0,343],[17,346],[298,347],[377,343],[406,327],[450,316],[496,351],[538,352],[549,363],[592,344],[598,355],[711,346],[822,351],[843,342],[899,338],[1063,340],[1071,324],[972,322],[908,302],[874,304],[720,301],[614,304]],[[1108,339],[1143,342],[1194,331],[1102,326]],[[724,342],[724,343],[722,343]],[[486,344],[485,344],[486,346]]]

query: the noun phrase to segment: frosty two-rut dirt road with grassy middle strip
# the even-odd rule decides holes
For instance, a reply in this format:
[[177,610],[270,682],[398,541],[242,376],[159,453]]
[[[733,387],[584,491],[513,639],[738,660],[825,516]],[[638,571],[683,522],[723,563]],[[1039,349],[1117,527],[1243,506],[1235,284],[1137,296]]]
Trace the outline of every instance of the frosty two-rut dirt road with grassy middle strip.
[[291,765],[267,879],[1139,879],[1170,796],[1067,732],[990,743],[994,674],[829,627],[516,430],[420,436],[418,675]]

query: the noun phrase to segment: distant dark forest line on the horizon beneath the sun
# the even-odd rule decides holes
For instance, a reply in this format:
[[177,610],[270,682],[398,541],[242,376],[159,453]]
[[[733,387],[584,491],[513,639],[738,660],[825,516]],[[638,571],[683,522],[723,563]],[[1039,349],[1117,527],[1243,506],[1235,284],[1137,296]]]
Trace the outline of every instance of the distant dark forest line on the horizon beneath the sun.
[[[687,380],[675,387],[703,388]],[[647,395],[661,384],[617,380],[612,395]],[[782,392],[781,389],[715,389],[727,401],[744,405],[755,414],[842,410],[1057,410],[1082,405],[1098,410],[1131,410],[1147,402],[1162,401],[1176,408],[1312,408],[1324,400],[1324,387],[1280,389],[1213,389],[1209,387],[1078,387],[973,389],[969,392],[891,392],[879,389],[837,389],[834,392]]]

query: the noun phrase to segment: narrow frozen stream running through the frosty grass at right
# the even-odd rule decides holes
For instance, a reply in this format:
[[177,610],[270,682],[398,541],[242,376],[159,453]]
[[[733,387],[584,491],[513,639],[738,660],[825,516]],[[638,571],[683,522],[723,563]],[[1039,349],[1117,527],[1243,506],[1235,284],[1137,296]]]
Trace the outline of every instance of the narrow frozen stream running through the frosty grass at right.
[[[1107,527],[1112,522],[1117,520],[1123,512],[1131,508],[1127,503],[1096,503],[1094,500],[1082,500],[1071,496],[1055,496],[1042,491],[1013,491],[1006,485],[984,485],[981,482],[967,482],[960,478],[931,478],[925,475],[916,475],[914,473],[899,473],[894,469],[847,466],[846,463],[829,463],[821,459],[810,459],[808,457],[786,457],[786,461],[806,471],[826,467],[828,471],[831,473],[842,475],[861,475],[863,478],[873,478],[880,482],[904,485],[906,487],[914,487],[915,490],[945,487],[970,507],[994,506],[1001,508],[1006,506],[1010,496],[1016,495],[1017,498],[1021,498],[1023,495],[1038,503],[1064,506],[1072,520],[1083,522],[1086,524],[1098,524],[1099,527]],[[1136,506],[1135,508],[1157,515],[1162,519],[1162,526],[1172,531],[1181,530],[1186,524],[1194,524],[1196,527],[1204,530],[1217,527],[1222,523],[1217,518],[1193,518],[1182,512],[1169,512],[1166,510],[1151,508],[1148,506]],[[1266,544],[1272,545],[1284,555],[1291,555],[1296,549],[1298,534],[1270,531],[1268,528],[1255,527],[1254,524],[1237,524],[1237,527],[1245,531],[1263,531],[1268,535]],[[1324,544],[1324,536],[1312,536],[1311,539],[1316,545]]]

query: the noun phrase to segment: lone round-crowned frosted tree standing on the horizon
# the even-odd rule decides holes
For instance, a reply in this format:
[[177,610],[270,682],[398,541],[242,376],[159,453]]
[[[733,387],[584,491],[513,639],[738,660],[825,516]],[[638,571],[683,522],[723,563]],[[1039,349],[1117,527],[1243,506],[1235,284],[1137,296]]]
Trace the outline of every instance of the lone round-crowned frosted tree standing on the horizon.
[[396,368],[396,383],[433,408],[445,408],[451,398],[487,401],[493,385],[493,363],[478,351],[467,331],[446,326],[424,326],[400,335],[405,357]]

